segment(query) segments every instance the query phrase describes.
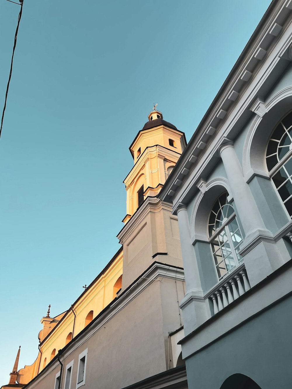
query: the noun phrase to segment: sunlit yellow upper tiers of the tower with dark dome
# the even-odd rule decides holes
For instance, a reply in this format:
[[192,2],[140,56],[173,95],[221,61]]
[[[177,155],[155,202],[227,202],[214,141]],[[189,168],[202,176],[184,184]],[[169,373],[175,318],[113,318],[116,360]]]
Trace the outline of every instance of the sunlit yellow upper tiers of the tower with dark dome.
[[129,149],[134,167],[123,181],[127,190],[127,223],[147,196],[157,196],[186,146],[185,134],[153,110]]

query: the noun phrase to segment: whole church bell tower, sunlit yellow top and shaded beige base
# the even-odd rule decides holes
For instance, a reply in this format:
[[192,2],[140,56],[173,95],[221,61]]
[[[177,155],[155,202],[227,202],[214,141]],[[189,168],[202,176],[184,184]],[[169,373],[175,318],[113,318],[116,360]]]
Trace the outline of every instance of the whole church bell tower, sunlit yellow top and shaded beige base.
[[122,291],[153,262],[183,266],[177,217],[158,193],[185,147],[185,134],[156,107],[129,147],[134,166],[124,180],[127,215],[118,234],[123,245]]

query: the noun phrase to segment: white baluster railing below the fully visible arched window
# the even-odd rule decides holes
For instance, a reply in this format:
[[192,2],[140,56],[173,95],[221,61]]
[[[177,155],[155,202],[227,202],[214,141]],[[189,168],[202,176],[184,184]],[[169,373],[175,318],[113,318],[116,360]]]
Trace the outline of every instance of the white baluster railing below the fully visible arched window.
[[206,298],[212,301],[214,315],[227,307],[234,300],[242,296],[250,289],[250,283],[246,274],[245,266],[242,264],[227,277],[220,281],[215,288],[211,289]]

